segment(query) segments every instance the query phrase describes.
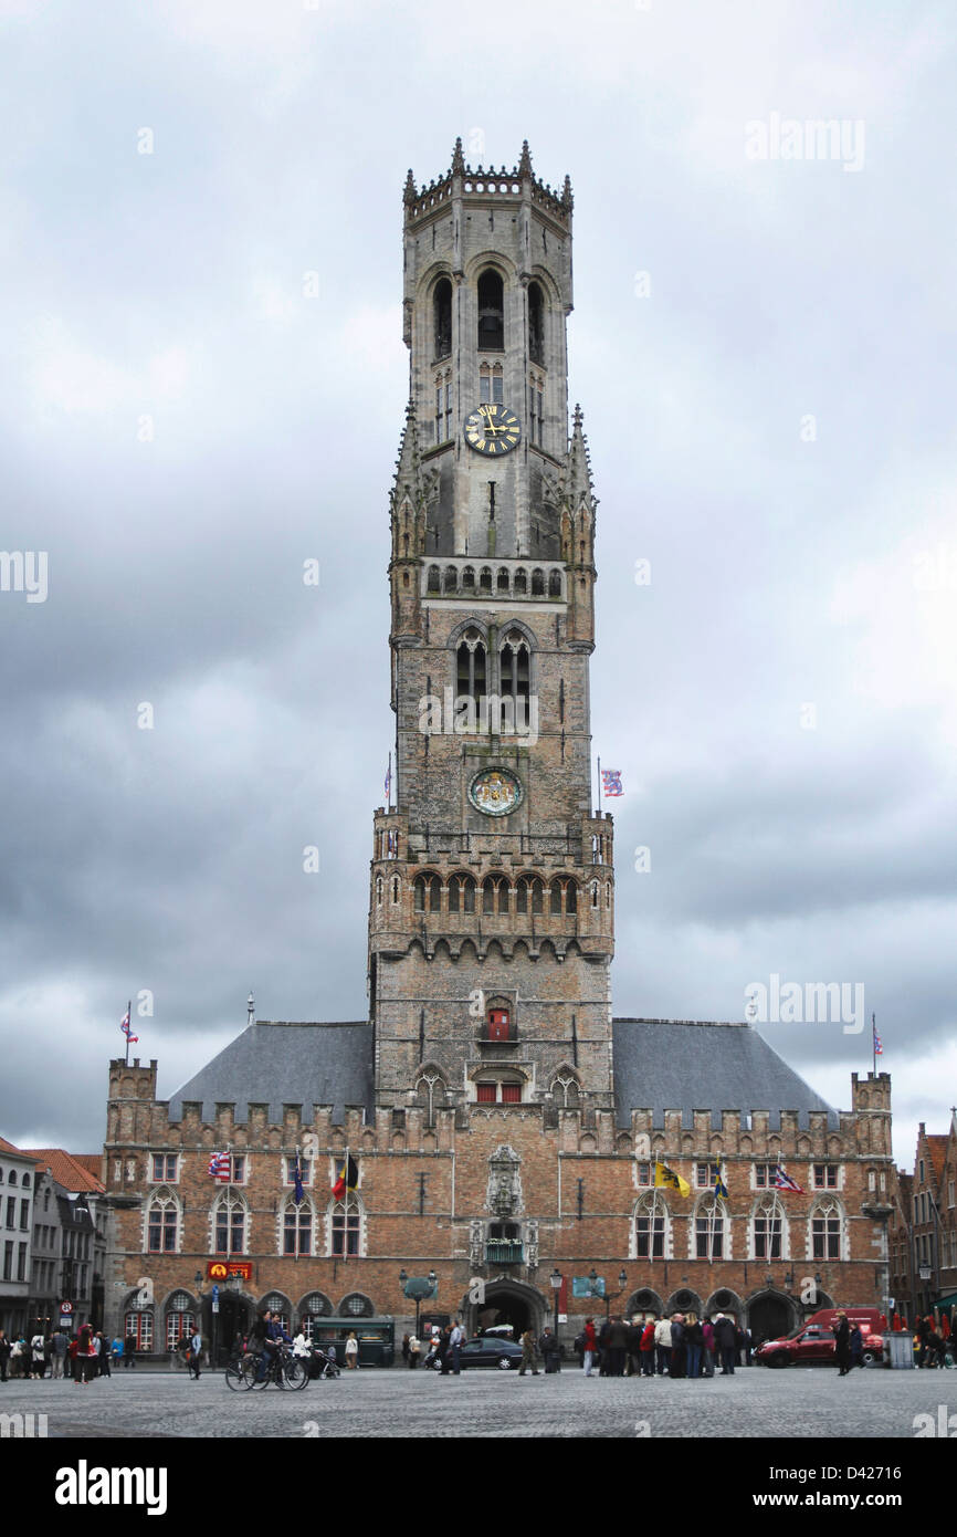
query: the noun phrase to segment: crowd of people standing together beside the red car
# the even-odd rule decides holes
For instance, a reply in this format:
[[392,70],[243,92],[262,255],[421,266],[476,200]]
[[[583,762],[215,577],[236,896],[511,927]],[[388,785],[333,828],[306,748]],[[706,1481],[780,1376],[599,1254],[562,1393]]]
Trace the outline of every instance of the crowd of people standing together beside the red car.
[[585,1377],[733,1377],[737,1365],[751,1365],[751,1336],[727,1313],[696,1319],[685,1313],[657,1319],[594,1319],[575,1342]]

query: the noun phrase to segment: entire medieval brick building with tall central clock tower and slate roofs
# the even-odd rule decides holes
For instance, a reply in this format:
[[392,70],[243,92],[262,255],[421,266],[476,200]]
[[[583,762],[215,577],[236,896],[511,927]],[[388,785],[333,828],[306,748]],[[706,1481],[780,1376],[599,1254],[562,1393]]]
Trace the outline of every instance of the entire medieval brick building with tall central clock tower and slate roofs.
[[[169,1100],[155,1062],[111,1064],[111,1326],[141,1349],[200,1313],[209,1333],[217,1276],[224,1342],[264,1300],[401,1331],[399,1277],[429,1273],[429,1306],[470,1328],[539,1330],[559,1274],[570,1333],[602,1280],[616,1311],[722,1308],[759,1334],[886,1296],[888,1076],[854,1076],[837,1113],[747,1024],[611,1016],[578,407],[567,435],[571,211],[527,146],[512,171],[472,169],[456,144],[436,183],[409,175],[395,795],[373,818],[369,1017],[250,1017]],[[349,1157],[358,1183],[336,1199]],[[654,1188],[656,1160],[690,1196]],[[780,1165],[803,1193],[776,1188]]]

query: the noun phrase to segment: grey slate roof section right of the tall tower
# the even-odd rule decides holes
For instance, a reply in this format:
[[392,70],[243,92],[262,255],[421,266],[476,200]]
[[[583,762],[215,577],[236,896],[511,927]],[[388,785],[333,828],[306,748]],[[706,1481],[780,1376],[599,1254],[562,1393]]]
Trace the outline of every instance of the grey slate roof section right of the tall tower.
[[780,1111],[796,1110],[800,1127],[810,1110],[837,1111],[788,1067],[751,1025],[690,1019],[614,1019],[614,1102],[618,1124],[630,1127],[633,1110],[653,1110],[664,1127],[665,1110],[710,1110],[720,1130],[722,1110],[770,1111],[768,1128],[780,1130]]

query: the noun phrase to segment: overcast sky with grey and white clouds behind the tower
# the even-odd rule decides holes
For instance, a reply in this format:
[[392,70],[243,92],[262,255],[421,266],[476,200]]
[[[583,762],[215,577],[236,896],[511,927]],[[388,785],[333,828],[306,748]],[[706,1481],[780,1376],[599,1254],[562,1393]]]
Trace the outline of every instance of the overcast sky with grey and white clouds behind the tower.
[[[401,192],[461,134],[575,188],[614,1013],[862,984],[860,1034],[760,1028],[848,1108],[874,1011],[911,1167],[957,1099],[952,6],[0,18],[0,546],[48,553],[0,592],[3,1134],[101,1145],[141,990],[163,1097],[250,987],[366,1017]],[[783,158],[817,118],[843,149]]]

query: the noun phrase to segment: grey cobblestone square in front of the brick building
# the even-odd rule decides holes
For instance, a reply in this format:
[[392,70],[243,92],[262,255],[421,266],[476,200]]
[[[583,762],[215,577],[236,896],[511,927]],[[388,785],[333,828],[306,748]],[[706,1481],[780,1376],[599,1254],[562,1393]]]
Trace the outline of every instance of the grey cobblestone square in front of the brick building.
[[[943,1413],[942,1413],[943,1406]],[[141,1371],[69,1382],[9,1382],[2,1414],[45,1414],[46,1434],[77,1437],[868,1437],[916,1439],[949,1423],[957,1371],[768,1371],[677,1380],[472,1371],[344,1373],[301,1393],[230,1393],[221,1373]],[[929,1416],[931,1420],[919,1420]],[[949,1422],[949,1417],[954,1417]],[[9,1434],[9,1429],[6,1431]],[[828,1456],[831,1456],[828,1452]],[[868,1460],[874,1460],[873,1451]]]

